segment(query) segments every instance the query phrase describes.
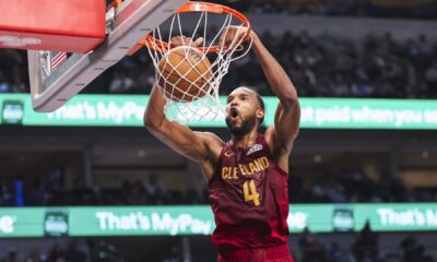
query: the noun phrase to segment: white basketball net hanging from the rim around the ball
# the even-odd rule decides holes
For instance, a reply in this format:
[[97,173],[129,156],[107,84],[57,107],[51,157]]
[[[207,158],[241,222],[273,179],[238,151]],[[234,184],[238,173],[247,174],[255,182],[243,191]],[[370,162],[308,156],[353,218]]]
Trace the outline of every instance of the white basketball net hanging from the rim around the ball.
[[[192,4],[193,2],[190,2]],[[200,3],[196,2],[196,4],[208,4],[208,5],[216,5],[211,3]],[[220,7],[220,5],[218,5]],[[225,7],[224,7],[225,8]],[[228,8],[226,8],[228,9]],[[199,10],[199,8],[197,8]],[[232,61],[238,60],[246,56],[250,50],[252,39],[250,37],[239,37],[234,38],[233,41],[227,45],[228,48],[224,48],[223,45],[220,45],[218,40],[222,35],[226,35],[228,33],[228,26],[231,25],[239,25],[248,27],[248,32],[250,33],[250,25],[248,21],[241,21],[240,19],[236,19],[233,13],[217,13],[214,12],[211,14],[210,11],[194,11],[198,13],[199,19],[196,22],[196,25],[192,27],[192,32],[187,34],[186,29],[182,29],[182,17],[181,15],[187,15],[186,12],[176,12],[168,23],[164,23],[153,29],[151,35],[145,38],[145,45],[147,46],[149,53],[153,60],[155,66],[155,78],[156,80],[164,80],[166,81],[166,88],[160,86],[164,97],[166,99],[165,112],[167,118],[177,121],[190,121],[190,122],[199,122],[199,121],[212,121],[215,119],[224,119],[225,118],[225,105],[222,105],[218,88],[222,83],[222,79],[224,75],[227,74],[229,64]],[[190,15],[190,23],[196,20],[194,15]],[[217,22],[217,15],[221,17]],[[214,23],[209,24],[209,16],[214,16]],[[218,25],[217,25],[218,24]],[[215,27],[214,27],[215,26]],[[165,27],[165,28],[161,28]],[[187,27],[187,25],[186,25]],[[215,33],[213,33],[214,28],[217,28]],[[243,28],[239,27],[241,31]],[[191,27],[190,27],[191,29]],[[239,33],[239,32],[238,32]],[[240,34],[235,35],[240,35]],[[248,34],[249,34],[248,33]],[[247,35],[248,35],[247,34]],[[170,83],[167,81],[165,75],[158,70],[158,63],[164,58],[167,59],[166,55],[169,50],[174,48],[174,46],[169,45],[172,37],[175,36],[184,36],[190,37],[189,43],[184,43],[184,47],[189,50],[190,48],[197,48],[200,50],[200,56],[203,56],[199,59],[199,62],[202,62],[203,59],[206,57],[211,61],[211,68],[209,72],[204,72],[199,75],[199,78],[193,81],[186,78],[187,75],[181,75],[181,79],[185,81],[189,81],[191,86],[190,92],[186,93],[180,90],[177,84],[178,82]],[[203,44],[198,47],[191,47],[192,43],[198,38],[203,37]],[[247,41],[247,45],[243,45]],[[196,70],[197,64],[193,63],[188,56],[190,56],[190,51],[185,52],[185,61],[181,62],[190,62],[190,66]],[[178,64],[170,64],[172,70],[177,71]],[[205,78],[205,74],[212,75],[211,78]],[[168,78],[169,74],[167,74]],[[200,81],[199,81],[200,80]],[[199,85],[199,82],[201,85]],[[168,88],[168,85],[172,88]],[[192,92],[192,88],[199,88],[198,92]],[[191,102],[176,102],[174,93],[178,92],[184,93],[184,96],[193,97]]]

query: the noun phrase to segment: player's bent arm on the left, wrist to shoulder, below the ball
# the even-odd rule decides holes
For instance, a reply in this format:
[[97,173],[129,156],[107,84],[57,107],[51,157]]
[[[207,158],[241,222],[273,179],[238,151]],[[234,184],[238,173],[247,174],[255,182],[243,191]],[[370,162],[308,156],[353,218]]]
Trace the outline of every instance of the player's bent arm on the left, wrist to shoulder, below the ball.
[[[155,85],[144,112],[144,126],[147,130],[174,151],[198,163],[208,163],[217,155],[221,140],[208,132],[193,132],[188,127],[166,118],[165,99]],[[220,152],[218,152],[220,154]],[[206,177],[209,174],[205,174]]]

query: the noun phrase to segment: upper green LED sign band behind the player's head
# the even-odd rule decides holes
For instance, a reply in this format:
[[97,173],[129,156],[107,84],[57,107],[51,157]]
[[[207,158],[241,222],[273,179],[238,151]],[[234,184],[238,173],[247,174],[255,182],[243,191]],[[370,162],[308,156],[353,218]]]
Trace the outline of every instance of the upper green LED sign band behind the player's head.
[[[35,112],[31,96],[1,94],[2,124],[74,126],[74,127],[143,127],[149,96],[78,95],[55,112]],[[264,97],[264,123],[273,123],[277,98]],[[222,104],[225,97],[222,97]],[[437,100],[300,98],[303,129],[388,129],[437,130]],[[169,118],[178,114],[169,110]],[[224,119],[186,122],[190,127],[225,128]]]

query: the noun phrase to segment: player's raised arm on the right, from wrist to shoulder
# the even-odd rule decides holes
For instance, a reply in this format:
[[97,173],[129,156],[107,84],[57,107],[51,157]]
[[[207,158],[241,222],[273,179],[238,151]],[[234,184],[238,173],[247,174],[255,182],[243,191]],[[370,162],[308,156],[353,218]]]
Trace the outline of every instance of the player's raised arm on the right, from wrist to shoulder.
[[261,43],[257,34],[251,34],[252,49],[261,64],[265,79],[280,99],[274,116],[274,126],[265,131],[272,151],[290,153],[299,132],[300,107],[297,92],[288,75]]

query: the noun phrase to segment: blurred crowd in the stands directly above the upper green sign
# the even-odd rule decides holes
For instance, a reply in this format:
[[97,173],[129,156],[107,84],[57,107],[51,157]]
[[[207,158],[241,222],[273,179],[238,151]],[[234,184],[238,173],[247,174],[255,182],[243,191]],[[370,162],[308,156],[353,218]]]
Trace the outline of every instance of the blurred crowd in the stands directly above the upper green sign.
[[[437,97],[437,43],[426,35],[404,41],[390,33],[368,35],[359,44],[306,32],[261,34],[264,45],[292,76],[302,97]],[[0,50],[0,93],[28,92],[23,51]],[[154,68],[145,50],[121,60],[83,93],[149,94]],[[231,64],[221,93],[247,85],[271,95],[253,53]]]

